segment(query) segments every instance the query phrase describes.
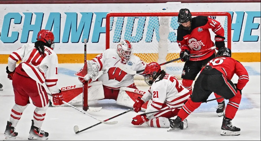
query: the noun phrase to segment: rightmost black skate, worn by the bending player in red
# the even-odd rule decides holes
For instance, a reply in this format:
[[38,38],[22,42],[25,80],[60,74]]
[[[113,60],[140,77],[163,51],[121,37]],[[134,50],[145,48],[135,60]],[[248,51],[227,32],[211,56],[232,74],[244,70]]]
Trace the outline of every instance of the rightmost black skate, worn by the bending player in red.
[[222,126],[221,126],[221,136],[238,136],[240,135],[240,128],[237,128],[232,125],[231,119],[223,119]]

